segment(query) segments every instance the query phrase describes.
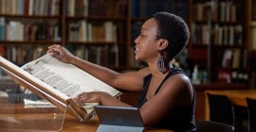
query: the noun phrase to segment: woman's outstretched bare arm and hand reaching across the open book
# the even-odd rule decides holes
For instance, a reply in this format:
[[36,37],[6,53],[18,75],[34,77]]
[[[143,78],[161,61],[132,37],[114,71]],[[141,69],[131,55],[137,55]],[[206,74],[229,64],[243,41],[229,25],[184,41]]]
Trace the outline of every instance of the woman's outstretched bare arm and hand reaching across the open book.
[[89,74],[99,78],[108,85],[126,91],[141,91],[143,85],[143,77],[149,74],[149,69],[145,68],[137,72],[120,74],[113,70],[107,69],[100,65],[75,57],[67,51],[63,46],[52,45],[48,47],[48,51],[52,57],[57,58],[65,63],[71,63],[81,68]]

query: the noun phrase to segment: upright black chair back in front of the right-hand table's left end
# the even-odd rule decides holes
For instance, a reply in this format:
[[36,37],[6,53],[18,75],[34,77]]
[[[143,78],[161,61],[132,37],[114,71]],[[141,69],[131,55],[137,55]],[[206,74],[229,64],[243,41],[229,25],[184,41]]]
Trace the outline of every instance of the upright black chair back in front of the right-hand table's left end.
[[210,121],[230,124],[234,126],[234,107],[226,95],[214,95],[208,93],[210,107]]

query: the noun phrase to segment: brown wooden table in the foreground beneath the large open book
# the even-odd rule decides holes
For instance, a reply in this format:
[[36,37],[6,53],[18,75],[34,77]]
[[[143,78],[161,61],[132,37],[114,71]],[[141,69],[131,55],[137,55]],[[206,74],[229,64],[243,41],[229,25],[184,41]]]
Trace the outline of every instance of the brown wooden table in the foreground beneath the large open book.
[[[97,116],[81,122],[56,107],[24,107],[0,98],[1,132],[96,132],[99,125]],[[150,128],[147,132],[172,131]]]

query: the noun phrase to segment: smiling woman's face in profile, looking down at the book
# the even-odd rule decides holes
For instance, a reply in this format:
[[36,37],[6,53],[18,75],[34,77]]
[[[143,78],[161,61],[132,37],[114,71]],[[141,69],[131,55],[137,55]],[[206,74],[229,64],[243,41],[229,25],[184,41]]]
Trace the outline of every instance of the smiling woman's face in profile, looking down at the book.
[[146,21],[140,30],[140,34],[135,40],[136,60],[150,62],[158,57],[157,49],[159,40],[156,39],[157,23],[155,19]]

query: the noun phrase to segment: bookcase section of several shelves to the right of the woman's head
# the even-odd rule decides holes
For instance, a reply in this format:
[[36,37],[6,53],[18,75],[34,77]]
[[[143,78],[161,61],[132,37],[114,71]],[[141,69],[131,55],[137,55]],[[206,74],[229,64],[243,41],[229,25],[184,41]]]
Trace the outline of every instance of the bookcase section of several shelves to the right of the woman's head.
[[247,84],[245,8],[247,1],[192,1],[190,58],[207,72],[210,83]]

